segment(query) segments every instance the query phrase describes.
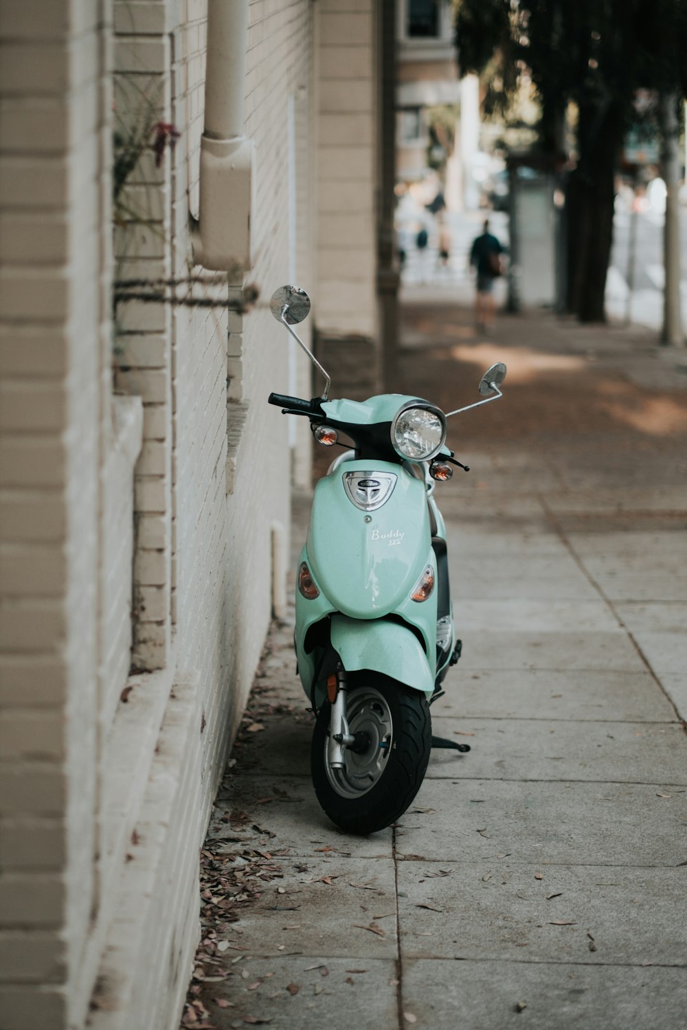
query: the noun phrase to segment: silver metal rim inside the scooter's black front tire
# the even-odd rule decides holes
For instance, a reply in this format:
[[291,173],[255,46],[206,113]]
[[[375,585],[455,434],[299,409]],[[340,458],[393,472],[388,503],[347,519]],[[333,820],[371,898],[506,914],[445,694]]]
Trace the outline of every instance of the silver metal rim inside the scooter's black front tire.
[[329,759],[329,731],[324,739],[324,768],[341,797],[362,797],[379,783],[391,750],[393,721],[386,698],[374,687],[357,687],[348,695],[350,733],[367,733],[369,745],[363,752],[344,751],[344,767],[332,768]]

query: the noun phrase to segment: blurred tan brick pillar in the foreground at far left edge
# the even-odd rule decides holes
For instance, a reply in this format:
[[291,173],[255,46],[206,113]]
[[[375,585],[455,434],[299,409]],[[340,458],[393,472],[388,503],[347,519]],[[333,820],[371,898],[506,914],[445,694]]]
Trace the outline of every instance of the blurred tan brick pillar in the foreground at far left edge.
[[[131,488],[137,449],[136,404],[124,418],[103,404],[107,18],[106,3],[84,0],[8,0],[0,11],[0,1023],[8,1030],[65,1026],[84,1011],[97,964],[87,940],[98,907],[100,673],[122,686],[128,674],[126,489],[107,520],[121,578],[104,575],[102,551],[100,472],[124,443],[110,470]],[[105,622],[124,656],[101,652]]]

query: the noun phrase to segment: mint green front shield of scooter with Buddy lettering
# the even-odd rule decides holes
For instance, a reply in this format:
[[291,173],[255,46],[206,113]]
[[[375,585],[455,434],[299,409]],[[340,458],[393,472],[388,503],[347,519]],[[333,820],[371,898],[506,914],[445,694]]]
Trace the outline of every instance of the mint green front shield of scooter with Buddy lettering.
[[[383,496],[379,484],[386,500],[366,508],[366,499]],[[317,483],[307,552],[339,612],[352,619],[397,612],[431,559],[424,483],[389,461],[344,462]]]

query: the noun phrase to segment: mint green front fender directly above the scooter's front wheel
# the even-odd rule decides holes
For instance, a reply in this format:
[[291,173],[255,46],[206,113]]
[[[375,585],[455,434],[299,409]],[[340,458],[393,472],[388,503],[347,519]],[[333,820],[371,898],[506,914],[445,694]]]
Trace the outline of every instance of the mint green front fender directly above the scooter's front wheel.
[[406,626],[337,614],[332,616],[331,632],[332,646],[348,673],[364,668],[383,673],[432,696],[434,673],[419,641]]

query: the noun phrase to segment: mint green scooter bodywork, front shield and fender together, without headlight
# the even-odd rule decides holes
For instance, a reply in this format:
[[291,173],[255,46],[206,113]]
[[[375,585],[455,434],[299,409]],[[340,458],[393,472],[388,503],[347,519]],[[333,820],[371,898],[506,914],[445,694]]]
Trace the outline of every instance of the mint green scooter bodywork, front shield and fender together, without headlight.
[[[373,511],[357,508],[344,486],[344,476],[351,472],[392,476],[385,503]],[[307,644],[308,631],[318,623],[328,624],[331,645],[345,668],[384,673],[431,694],[437,590],[424,602],[411,597],[427,565],[437,579],[423,482],[400,465],[346,460],[315,488],[300,560],[307,562],[319,590],[312,600],[299,591],[296,595],[296,653],[308,696],[313,680],[321,679],[312,641]],[[320,684],[320,702],[321,690]]]

